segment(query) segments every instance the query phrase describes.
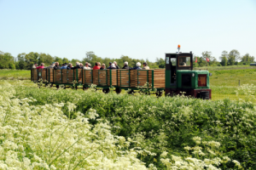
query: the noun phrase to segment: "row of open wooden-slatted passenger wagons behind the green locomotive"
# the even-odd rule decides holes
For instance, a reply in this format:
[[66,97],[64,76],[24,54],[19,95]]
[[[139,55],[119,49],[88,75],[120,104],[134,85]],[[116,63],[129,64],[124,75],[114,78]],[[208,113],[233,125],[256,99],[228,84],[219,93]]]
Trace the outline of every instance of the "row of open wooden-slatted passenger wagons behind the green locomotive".
[[132,89],[156,88],[158,91],[165,88],[165,70],[82,70],[82,69],[32,69],[31,80],[39,80],[55,84],[56,86],[83,86],[88,88],[95,84],[96,88]]

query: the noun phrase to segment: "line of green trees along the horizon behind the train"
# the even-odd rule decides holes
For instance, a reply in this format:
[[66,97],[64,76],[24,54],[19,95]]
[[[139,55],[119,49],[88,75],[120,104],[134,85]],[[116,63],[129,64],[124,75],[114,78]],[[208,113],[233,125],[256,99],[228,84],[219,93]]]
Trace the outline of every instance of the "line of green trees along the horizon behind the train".
[[[210,62],[207,62],[207,58],[210,59]],[[195,60],[197,59],[197,62]],[[248,65],[249,63],[254,62],[254,57],[250,54],[242,55],[236,50],[233,49],[229,52],[223,51],[221,56],[219,57],[220,62],[212,56],[210,51],[202,52],[201,56],[194,56],[194,67],[201,67],[201,66],[225,66],[225,65]],[[60,65],[64,63],[75,63],[79,61],[81,63],[89,62],[91,65],[94,65],[96,62],[105,63],[108,65],[109,62],[116,61],[119,66],[122,66],[125,61],[129,63],[130,67],[136,66],[137,62],[147,62],[148,66],[151,69],[155,68],[165,68],[166,62],[165,59],[156,58],[155,62],[150,62],[148,59],[131,59],[127,55],[121,55],[119,59],[110,59],[110,58],[102,58],[97,56],[94,52],[89,51],[86,52],[84,58],[80,59],[67,59],[67,58],[60,58],[57,56],[51,56],[50,54],[44,53],[35,53],[31,52],[29,54],[21,53],[18,54],[17,57],[12,56],[9,53],[3,53],[0,51],[0,69],[19,69],[19,70],[30,70],[32,65],[35,63],[44,65],[50,65],[52,62],[59,62]]]

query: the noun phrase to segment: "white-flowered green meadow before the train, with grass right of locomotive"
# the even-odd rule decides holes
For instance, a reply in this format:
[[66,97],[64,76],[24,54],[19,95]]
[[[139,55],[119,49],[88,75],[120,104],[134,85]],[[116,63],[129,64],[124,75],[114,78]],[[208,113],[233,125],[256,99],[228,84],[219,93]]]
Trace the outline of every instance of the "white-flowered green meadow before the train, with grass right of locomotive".
[[0,169],[255,169],[254,70],[211,72],[212,100],[0,80]]

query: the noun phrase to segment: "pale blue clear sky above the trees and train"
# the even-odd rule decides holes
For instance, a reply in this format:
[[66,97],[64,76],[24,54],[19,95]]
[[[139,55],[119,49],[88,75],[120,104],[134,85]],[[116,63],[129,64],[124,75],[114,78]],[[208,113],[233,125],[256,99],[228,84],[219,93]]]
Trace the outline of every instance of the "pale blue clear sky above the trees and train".
[[256,57],[256,0],[0,0],[0,51],[83,59],[237,49]]

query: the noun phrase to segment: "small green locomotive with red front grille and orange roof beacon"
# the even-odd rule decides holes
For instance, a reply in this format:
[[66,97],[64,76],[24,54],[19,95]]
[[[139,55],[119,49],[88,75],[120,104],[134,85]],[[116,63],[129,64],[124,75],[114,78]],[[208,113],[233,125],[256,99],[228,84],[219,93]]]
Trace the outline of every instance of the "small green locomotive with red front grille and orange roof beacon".
[[[179,49],[179,47],[178,47]],[[193,71],[193,54],[166,54],[166,95],[181,94],[212,99],[209,71]]]

